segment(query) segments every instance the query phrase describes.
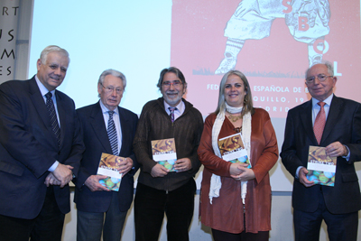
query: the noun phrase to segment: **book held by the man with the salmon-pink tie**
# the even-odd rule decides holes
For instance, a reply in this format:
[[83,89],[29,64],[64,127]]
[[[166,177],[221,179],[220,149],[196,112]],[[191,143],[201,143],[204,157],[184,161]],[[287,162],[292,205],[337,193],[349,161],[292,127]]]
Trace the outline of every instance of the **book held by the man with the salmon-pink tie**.
[[320,185],[335,186],[337,160],[336,156],[330,157],[326,154],[326,147],[310,145],[307,180]]

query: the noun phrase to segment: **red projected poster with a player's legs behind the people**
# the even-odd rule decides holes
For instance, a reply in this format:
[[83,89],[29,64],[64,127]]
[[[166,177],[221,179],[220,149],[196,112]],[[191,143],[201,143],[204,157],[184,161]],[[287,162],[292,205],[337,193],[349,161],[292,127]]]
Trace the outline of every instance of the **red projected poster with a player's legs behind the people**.
[[304,84],[309,58],[335,63],[336,95],[360,102],[359,12],[358,1],[174,0],[171,66],[184,73],[186,98],[204,116],[217,107],[223,73],[215,71],[228,37],[244,42],[235,68],[249,80],[255,107],[272,117],[285,117],[310,99]]

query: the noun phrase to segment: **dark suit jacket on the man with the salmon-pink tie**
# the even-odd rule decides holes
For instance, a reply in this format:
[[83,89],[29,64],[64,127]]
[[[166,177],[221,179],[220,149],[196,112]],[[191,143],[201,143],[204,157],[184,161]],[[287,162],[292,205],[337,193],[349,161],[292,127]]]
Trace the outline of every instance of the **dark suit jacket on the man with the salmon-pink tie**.
[[[350,151],[349,162],[338,157],[335,186],[322,186],[323,197],[329,211],[345,214],[361,209],[360,189],[354,162],[361,160],[361,105],[353,100],[333,97],[329,116],[317,143],[312,127],[312,101],[294,107],[288,112],[282,162],[294,176],[299,166],[307,168],[310,145],[327,145],[340,142]],[[319,204],[319,185],[304,187],[298,179],[293,181],[292,206],[294,209],[313,212]]]

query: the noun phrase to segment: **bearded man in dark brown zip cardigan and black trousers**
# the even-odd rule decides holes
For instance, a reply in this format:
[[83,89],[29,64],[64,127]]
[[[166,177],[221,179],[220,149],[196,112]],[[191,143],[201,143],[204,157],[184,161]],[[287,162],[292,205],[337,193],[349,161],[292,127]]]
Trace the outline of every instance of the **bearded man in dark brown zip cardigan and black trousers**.
[[[134,199],[135,240],[158,240],[164,212],[168,240],[189,240],[203,118],[182,98],[187,82],[180,70],[162,70],[157,87],[162,97],[145,104],[134,137],[134,153],[141,164]],[[170,138],[177,154],[175,171],[153,160],[152,141]]]

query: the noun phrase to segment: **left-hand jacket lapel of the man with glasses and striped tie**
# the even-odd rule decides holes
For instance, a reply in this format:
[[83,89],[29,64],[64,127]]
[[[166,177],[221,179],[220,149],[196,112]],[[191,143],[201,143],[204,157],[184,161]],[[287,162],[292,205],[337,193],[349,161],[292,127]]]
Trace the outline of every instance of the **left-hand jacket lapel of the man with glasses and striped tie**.
[[112,153],[109,138],[106,132],[106,124],[99,102],[93,107],[90,114],[90,125],[93,127],[94,133],[97,135],[99,142],[103,145],[106,153]]

